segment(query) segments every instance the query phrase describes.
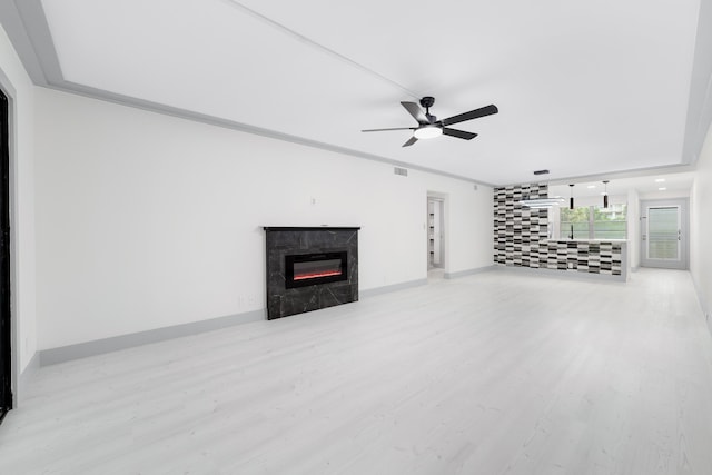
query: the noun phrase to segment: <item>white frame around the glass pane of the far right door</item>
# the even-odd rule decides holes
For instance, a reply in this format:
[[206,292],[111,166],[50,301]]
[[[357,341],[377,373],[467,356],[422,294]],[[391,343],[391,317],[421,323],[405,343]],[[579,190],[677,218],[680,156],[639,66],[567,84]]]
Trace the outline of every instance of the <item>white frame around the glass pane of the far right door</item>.
[[[680,208],[680,261],[650,259],[647,257],[647,210],[655,207]],[[647,199],[641,200],[641,267],[654,267],[662,269],[690,268],[690,199]]]

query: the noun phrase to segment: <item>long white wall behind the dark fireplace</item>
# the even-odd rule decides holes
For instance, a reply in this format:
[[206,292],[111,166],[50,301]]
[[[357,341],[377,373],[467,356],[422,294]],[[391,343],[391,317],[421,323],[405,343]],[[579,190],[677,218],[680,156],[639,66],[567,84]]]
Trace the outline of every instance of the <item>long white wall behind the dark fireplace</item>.
[[36,103],[41,349],[264,308],[264,225],[362,226],[362,290],[425,279],[428,190],[448,197],[446,270],[492,265],[491,188],[47,89]]

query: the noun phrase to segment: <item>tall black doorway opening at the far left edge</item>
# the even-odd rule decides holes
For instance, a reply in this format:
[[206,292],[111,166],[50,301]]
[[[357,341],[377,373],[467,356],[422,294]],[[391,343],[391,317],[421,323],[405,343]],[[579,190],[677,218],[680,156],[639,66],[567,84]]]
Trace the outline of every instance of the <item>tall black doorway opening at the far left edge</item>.
[[0,90],[0,422],[12,409],[10,308],[10,123]]

